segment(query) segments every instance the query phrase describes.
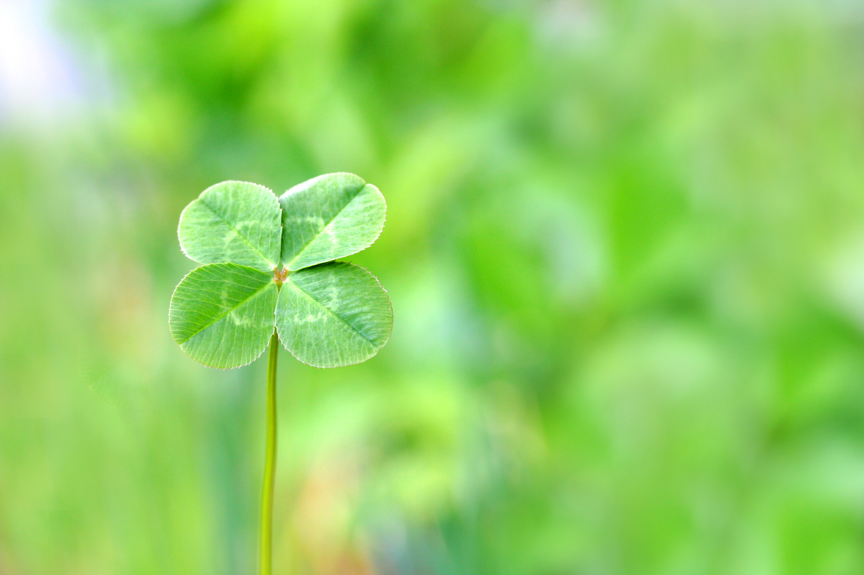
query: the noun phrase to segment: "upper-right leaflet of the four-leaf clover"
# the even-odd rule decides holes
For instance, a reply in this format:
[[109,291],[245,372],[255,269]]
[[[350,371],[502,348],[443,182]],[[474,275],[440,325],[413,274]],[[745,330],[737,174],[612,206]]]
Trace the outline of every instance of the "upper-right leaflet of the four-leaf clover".
[[279,198],[282,263],[308,268],[365,250],[384,228],[387,205],[378,188],[354,174],[324,174]]

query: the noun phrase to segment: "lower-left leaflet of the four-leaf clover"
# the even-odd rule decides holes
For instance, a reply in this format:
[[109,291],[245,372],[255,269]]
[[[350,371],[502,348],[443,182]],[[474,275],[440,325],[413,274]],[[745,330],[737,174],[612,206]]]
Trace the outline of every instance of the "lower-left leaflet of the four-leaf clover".
[[200,266],[171,296],[171,335],[187,356],[210,367],[251,363],[273,333],[277,299],[270,274],[233,263]]

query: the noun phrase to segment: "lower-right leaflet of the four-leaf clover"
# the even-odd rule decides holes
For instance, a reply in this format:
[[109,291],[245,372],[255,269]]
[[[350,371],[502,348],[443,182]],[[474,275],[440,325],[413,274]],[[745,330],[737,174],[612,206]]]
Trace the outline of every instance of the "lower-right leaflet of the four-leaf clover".
[[276,329],[294,357],[316,367],[365,360],[387,343],[393,310],[374,275],[346,262],[302,269],[283,284]]

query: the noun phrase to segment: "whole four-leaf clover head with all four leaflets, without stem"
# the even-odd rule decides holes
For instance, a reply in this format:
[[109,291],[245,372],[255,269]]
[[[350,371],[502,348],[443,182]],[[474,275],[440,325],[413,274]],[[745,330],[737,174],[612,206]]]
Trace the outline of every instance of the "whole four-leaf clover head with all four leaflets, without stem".
[[370,246],[385,211],[378,188],[354,174],[321,175],[279,200],[247,182],[208,187],[181,213],[181,249],[206,265],[171,297],[175,342],[216,368],[254,361],[274,326],[297,359],[316,367],[374,356],[393,325],[387,292],[365,269],[326,262]]

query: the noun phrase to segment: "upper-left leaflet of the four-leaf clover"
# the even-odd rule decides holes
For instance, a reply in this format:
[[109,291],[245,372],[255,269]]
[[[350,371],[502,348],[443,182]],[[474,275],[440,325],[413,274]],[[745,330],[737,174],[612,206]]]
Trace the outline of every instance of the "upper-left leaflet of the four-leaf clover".
[[271,271],[279,262],[282,209],[266,187],[245,181],[210,186],[180,215],[180,247],[200,263],[231,262]]

